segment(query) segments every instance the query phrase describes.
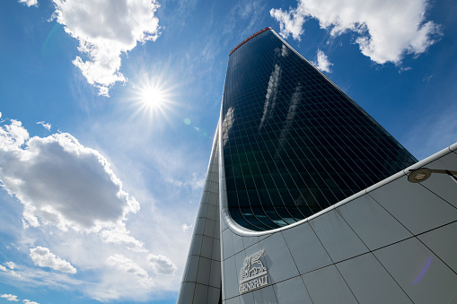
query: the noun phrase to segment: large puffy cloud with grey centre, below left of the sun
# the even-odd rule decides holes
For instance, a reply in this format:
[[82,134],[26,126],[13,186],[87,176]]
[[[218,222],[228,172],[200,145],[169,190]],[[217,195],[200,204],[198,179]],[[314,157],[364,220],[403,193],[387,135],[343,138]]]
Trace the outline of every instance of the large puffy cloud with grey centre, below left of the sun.
[[29,138],[15,120],[0,127],[0,181],[32,227],[100,231],[139,210],[100,152],[69,134]]

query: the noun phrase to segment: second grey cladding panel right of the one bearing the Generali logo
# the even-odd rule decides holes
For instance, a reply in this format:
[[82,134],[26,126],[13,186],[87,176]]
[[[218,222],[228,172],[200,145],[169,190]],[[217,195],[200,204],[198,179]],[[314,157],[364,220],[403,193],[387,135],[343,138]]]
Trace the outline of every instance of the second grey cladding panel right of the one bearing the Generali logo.
[[282,231],[300,274],[332,264],[309,222]]

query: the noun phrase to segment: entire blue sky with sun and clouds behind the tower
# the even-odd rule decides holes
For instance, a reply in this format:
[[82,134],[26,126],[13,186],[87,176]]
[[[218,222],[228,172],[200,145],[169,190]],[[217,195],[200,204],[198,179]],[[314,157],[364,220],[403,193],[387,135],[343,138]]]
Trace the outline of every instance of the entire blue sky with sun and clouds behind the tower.
[[228,54],[267,26],[418,160],[457,140],[451,0],[0,2],[0,303],[174,303]]

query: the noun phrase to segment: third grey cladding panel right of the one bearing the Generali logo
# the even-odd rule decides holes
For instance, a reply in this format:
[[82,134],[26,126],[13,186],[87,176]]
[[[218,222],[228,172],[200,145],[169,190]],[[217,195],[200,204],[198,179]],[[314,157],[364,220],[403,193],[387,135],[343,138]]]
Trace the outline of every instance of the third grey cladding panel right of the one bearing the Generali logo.
[[334,263],[368,251],[335,210],[322,214],[310,223]]

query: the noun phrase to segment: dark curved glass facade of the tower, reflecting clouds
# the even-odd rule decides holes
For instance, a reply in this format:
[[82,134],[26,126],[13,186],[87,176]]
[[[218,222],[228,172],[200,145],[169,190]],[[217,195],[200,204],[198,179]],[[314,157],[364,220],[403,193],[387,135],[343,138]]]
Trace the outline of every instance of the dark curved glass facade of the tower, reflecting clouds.
[[221,135],[228,207],[250,230],[300,221],[417,162],[273,30],[229,57]]

